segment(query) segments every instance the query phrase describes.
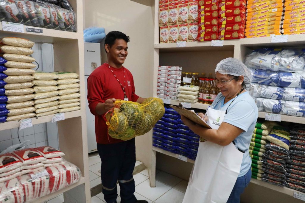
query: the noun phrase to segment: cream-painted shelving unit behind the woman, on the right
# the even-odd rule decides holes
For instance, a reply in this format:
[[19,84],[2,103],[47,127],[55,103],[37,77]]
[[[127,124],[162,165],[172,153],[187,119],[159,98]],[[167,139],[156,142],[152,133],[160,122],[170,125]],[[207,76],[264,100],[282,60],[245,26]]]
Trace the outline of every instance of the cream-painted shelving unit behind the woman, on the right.
[[[155,1],[155,27],[154,27],[154,72],[153,72],[153,95],[156,97],[158,66],[182,66],[184,72],[205,72],[213,73],[219,61],[227,57],[234,57],[244,60],[245,56],[252,50],[264,47],[298,47],[305,45],[305,34],[289,35],[286,43],[271,43],[271,37],[245,38],[239,40],[224,40],[222,47],[211,46],[211,41],[186,42],[185,47],[177,47],[176,43],[159,44],[159,1]],[[171,105],[178,105],[180,102],[171,100]],[[191,104],[191,108],[206,110],[208,105],[201,103]],[[265,118],[266,112],[259,112],[259,118]],[[282,121],[291,123],[305,123],[305,118],[296,116],[281,115]],[[152,136],[152,131],[150,132]],[[149,142],[152,144],[150,136]],[[151,168],[149,178],[151,187],[155,187],[156,152],[178,158],[178,155],[152,146]],[[178,161],[177,161],[178,162]],[[192,160],[188,160],[192,163]],[[178,166],[178,164],[177,164]],[[171,166],[174,170],[177,166]],[[257,187],[260,186],[260,187]],[[251,190],[249,189],[251,188]],[[272,194],[271,194],[272,192]],[[243,196],[245,202],[301,202],[293,198],[292,190],[287,187],[278,187],[269,183],[252,179],[249,187],[246,188]],[[258,195],[260,194],[260,195]],[[268,197],[267,197],[268,196]],[[249,198],[251,200],[249,200]]]

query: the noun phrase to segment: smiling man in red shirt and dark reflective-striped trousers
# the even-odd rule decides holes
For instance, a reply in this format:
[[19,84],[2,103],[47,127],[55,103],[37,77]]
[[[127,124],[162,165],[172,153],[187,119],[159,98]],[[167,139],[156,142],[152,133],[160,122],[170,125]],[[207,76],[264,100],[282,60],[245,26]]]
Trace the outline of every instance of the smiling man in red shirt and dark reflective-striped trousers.
[[89,109],[95,115],[95,137],[102,160],[102,192],[106,203],[117,202],[117,181],[121,203],[148,203],[135,198],[135,138],[122,141],[108,136],[105,113],[113,109],[116,99],[142,103],[145,98],[135,94],[132,74],[123,66],[127,57],[129,37],[111,31],[105,38],[107,62],[88,77]]

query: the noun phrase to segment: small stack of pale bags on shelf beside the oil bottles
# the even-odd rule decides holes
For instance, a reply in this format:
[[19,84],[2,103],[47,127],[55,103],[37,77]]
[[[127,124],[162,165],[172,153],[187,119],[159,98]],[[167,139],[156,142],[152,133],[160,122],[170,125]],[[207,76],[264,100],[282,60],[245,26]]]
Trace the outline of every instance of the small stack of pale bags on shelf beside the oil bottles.
[[196,103],[198,102],[199,87],[195,85],[184,85],[178,87],[178,100],[180,102]]

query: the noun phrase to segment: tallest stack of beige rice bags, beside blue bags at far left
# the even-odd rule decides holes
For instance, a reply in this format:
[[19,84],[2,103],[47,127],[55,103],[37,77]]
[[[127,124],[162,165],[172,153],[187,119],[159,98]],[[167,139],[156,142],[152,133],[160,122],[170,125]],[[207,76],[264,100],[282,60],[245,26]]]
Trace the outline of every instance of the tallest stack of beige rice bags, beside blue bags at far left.
[[7,121],[20,120],[34,117],[34,89],[32,88],[35,72],[32,68],[36,65],[33,57],[28,55],[34,51],[30,48],[34,42],[23,38],[4,37],[1,39],[2,57],[7,60],[4,66],[7,68],[3,73],[8,75],[4,80],[7,83],[5,95],[7,96],[6,109]]

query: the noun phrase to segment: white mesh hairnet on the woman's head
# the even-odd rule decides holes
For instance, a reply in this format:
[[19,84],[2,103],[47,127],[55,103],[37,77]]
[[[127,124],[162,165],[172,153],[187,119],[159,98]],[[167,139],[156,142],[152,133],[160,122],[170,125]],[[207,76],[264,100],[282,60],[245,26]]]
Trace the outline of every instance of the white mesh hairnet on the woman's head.
[[226,58],[217,63],[215,73],[229,74],[234,76],[243,76],[245,83],[251,82],[251,72],[248,67],[240,60],[235,58]]

